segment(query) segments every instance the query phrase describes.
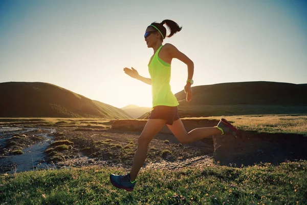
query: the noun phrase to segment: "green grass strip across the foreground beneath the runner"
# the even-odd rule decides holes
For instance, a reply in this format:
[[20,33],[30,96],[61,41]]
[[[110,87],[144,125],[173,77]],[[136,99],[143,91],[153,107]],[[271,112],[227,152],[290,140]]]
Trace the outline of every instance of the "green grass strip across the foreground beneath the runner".
[[116,189],[115,168],[41,170],[0,176],[8,204],[306,204],[307,161],[244,168],[144,170],[133,192]]

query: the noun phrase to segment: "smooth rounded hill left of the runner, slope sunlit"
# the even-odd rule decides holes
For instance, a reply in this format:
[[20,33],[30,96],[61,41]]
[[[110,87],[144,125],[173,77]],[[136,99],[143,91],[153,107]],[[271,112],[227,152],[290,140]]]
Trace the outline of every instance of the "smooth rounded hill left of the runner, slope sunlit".
[[48,83],[0,83],[0,117],[133,118],[123,110]]

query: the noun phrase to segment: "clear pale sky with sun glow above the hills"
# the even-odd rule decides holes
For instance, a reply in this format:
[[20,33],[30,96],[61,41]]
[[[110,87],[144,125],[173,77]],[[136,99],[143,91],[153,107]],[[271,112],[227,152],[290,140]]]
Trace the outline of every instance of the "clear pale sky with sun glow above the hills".
[[[194,62],[193,86],[243,81],[307,83],[306,0],[0,0],[0,83],[44,82],[118,108],[151,107],[144,33],[171,19],[163,42]],[[183,90],[187,66],[171,64]],[[192,99],[193,100],[193,99]]]

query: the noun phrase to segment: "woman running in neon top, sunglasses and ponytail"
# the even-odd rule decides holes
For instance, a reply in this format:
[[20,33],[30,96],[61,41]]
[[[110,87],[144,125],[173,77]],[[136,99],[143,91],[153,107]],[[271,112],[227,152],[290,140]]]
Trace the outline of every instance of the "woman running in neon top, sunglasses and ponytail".
[[[166,24],[170,31],[170,34],[167,36],[164,24]],[[196,128],[189,133],[185,130],[177,112],[179,103],[170,90],[170,65],[173,58],[177,58],[187,65],[188,78],[184,91],[186,93],[186,100],[190,101],[192,98],[191,85],[193,84],[194,64],[190,58],[173,45],[162,45],[165,37],[171,37],[173,34],[181,31],[181,29],[182,27],[179,27],[172,20],[163,20],[160,24],[155,22],[147,27],[144,35],[145,41],[147,47],[153,49],[153,55],[148,64],[150,78],[140,76],[134,68],[124,68],[124,72],[130,77],[151,85],[152,110],[144,130],[138,138],[138,148],[130,172],[125,175],[110,175],[112,184],[117,188],[133,191],[137,175],[146,159],[149,142],[165,124],[183,145],[215,134],[240,136],[239,131],[224,118],[218,122],[216,127]]]

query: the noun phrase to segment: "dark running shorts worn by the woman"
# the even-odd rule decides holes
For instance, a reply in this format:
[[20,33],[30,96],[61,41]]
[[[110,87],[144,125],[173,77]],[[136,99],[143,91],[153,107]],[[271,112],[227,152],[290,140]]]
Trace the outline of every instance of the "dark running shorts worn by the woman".
[[151,110],[149,119],[165,119],[167,125],[172,125],[173,121],[179,119],[178,108],[170,106],[155,106]]

